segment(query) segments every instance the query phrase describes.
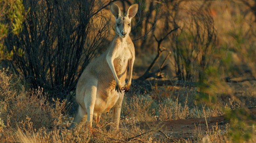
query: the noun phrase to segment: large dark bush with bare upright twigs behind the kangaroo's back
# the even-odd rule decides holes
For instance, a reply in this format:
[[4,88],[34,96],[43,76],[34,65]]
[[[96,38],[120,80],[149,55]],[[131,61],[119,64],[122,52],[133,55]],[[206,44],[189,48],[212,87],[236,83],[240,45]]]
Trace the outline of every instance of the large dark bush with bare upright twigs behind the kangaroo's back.
[[24,0],[23,29],[9,33],[3,45],[32,88],[43,87],[62,99],[75,89],[109,34],[110,19],[98,2]]

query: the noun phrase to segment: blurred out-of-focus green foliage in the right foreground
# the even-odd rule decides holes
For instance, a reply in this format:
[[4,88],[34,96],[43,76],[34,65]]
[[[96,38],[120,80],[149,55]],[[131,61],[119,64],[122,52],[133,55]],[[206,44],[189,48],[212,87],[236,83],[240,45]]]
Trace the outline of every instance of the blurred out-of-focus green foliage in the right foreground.
[[[241,18],[241,17],[238,17]],[[241,22],[238,20],[236,22]],[[209,94],[217,98],[219,95],[231,96],[235,101],[244,105],[244,103],[237,98],[236,93],[230,90],[230,84],[226,83],[225,77],[243,76],[244,71],[250,69],[251,76],[255,72],[255,37],[244,33],[241,23],[234,27],[231,31],[227,31],[229,36],[229,43],[223,43],[213,53],[217,57],[216,62],[208,65],[204,70],[205,80],[199,82],[200,94],[197,100],[209,103]],[[252,50],[253,49],[253,50]],[[247,75],[248,76],[248,75]],[[246,77],[246,76],[245,76]],[[250,82],[247,82],[250,85]],[[249,96],[249,95],[246,95]],[[251,116],[246,109],[237,110],[237,108],[226,108],[225,118],[229,122],[229,138],[233,142],[250,142],[250,139],[255,137],[255,117]]]

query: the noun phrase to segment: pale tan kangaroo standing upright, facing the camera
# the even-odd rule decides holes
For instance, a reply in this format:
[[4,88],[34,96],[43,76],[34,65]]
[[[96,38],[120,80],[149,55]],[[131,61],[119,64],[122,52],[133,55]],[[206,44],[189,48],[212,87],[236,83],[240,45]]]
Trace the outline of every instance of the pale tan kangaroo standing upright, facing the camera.
[[[76,100],[79,107],[70,128],[79,124],[86,115],[87,123],[92,127],[93,117],[99,122],[101,114],[112,109],[111,128],[118,130],[124,92],[129,91],[132,82],[135,50],[129,33],[131,19],[138,7],[138,4],[131,5],[122,16],[120,8],[110,4],[111,13],[115,16],[115,38],[104,53],[88,64],[78,79]],[[125,83],[127,67],[129,78]]]

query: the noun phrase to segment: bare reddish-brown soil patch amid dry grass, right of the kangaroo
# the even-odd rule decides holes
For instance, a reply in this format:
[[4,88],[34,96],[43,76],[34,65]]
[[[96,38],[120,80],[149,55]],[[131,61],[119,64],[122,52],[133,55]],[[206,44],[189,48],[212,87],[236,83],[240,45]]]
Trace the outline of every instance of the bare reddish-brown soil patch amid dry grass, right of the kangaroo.
[[[248,109],[251,116],[256,116],[256,108]],[[208,117],[206,118],[209,130],[218,124],[218,129],[224,130],[226,128],[227,120],[224,116]],[[139,126],[146,131],[161,130],[168,136],[190,136],[195,131],[195,126],[198,129],[201,127],[201,132],[204,133],[207,130],[205,118],[190,118],[179,119],[172,121],[152,121],[143,122]]]

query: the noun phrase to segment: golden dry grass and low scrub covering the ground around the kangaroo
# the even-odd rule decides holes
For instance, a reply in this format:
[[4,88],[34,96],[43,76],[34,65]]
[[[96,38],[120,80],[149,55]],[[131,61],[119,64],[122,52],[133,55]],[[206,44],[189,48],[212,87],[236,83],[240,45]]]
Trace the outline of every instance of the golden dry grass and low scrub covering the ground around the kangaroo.
[[[188,92],[177,94],[175,100],[170,99],[174,93],[166,92],[166,97],[156,101],[149,93],[126,97],[122,107],[120,130],[110,131],[111,112],[103,115],[101,122],[88,129],[83,125],[80,129],[67,130],[72,117],[67,114],[66,101],[47,100],[47,94],[42,88],[26,91],[15,89],[12,75],[8,70],[0,70],[1,114],[0,141],[1,142],[231,142],[230,127],[208,126],[202,131],[200,124],[195,125],[192,136],[175,137],[161,131],[141,129],[138,123],[144,121],[169,121],[204,117],[206,122],[210,116],[222,115],[217,104],[203,105],[188,103]],[[191,89],[189,89],[191,90]],[[166,90],[168,91],[168,90]],[[154,92],[154,91],[153,91]],[[5,94],[4,94],[5,93]],[[7,94],[8,93],[8,94]],[[7,97],[5,97],[7,96]],[[182,97],[180,99],[180,97]],[[209,97],[210,98],[210,97]],[[184,100],[180,103],[180,100]],[[225,109],[239,109],[240,105],[229,100]],[[237,122],[235,126],[239,126]],[[252,128],[255,134],[255,127]],[[160,130],[160,131],[159,131]],[[255,135],[249,142],[255,141]]]

